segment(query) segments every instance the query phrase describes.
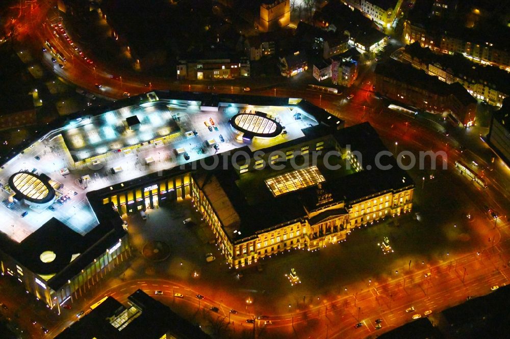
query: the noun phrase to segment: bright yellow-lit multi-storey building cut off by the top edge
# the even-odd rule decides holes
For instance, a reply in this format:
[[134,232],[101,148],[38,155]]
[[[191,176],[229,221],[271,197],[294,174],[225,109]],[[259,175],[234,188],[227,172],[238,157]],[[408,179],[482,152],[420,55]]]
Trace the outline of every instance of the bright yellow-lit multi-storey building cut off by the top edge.
[[402,0],[342,0],[342,2],[360,10],[382,27],[393,25],[402,5]]

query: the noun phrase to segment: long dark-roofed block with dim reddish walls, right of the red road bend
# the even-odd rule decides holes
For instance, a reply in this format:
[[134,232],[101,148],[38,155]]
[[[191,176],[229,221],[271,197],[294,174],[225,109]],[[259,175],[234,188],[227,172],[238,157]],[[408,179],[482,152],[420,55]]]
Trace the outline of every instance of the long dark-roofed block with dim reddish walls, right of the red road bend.
[[466,127],[475,120],[476,99],[460,83],[447,84],[393,59],[375,67],[374,90],[418,109],[450,113]]

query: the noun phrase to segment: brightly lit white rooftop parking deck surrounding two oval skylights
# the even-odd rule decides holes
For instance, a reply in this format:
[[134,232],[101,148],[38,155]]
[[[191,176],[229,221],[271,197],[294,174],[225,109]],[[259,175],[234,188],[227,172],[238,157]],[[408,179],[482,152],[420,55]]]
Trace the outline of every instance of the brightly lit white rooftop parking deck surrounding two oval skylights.
[[[285,143],[304,136],[301,129],[318,125],[313,116],[293,105],[219,103],[218,107],[203,107],[194,101],[183,104],[181,100],[178,105],[172,104],[173,101],[130,104],[94,117],[73,120],[5,163],[0,169],[0,183],[4,186],[8,185],[13,174],[34,171],[48,176],[60,188],[56,189],[55,202],[41,210],[19,202],[8,207],[10,194],[2,189],[1,200],[6,200],[6,203],[0,206],[5,209],[0,231],[21,242],[55,217],[84,235],[98,224],[86,197],[88,191],[215,153],[244,146],[255,151]],[[285,126],[287,132],[243,141],[239,132],[228,123],[241,110],[264,112]],[[296,112],[302,113],[297,120]],[[133,116],[138,118],[139,126],[127,126],[133,121],[126,119]],[[214,144],[217,144],[217,149]],[[188,160],[183,151],[189,156]],[[24,212],[29,213],[22,217]]]

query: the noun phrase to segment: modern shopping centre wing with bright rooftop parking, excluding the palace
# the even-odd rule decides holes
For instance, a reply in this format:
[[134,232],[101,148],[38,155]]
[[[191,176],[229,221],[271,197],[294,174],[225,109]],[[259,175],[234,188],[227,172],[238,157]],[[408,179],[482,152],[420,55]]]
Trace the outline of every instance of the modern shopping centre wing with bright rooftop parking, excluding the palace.
[[191,199],[194,163],[285,144],[319,125],[343,121],[301,99],[187,92],[69,116],[0,166],[0,272],[62,307],[129,258],[120,216]]

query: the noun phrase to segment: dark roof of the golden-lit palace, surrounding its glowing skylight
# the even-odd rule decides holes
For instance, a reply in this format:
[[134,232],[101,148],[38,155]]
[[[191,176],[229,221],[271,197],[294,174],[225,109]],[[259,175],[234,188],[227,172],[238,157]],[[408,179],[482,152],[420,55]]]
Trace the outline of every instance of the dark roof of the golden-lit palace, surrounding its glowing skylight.
[[[316,131],[313,132],[313,130]],[[325,178],[322,189],[326,193],[331,193],[333,200],[337,203],[348,204],[375,193],[398,191],[414,185],[411,177],[398,168],[393,157],[385,158],[387,161],[384,164],[392,165],[390,170],[384,171],[377,168],[375,156],[378,152],[387,151],[387,149],[369,123],[340,130],[324,129],[319,125],[306,128],[303,132],[305,132],[304,137],[264,149],[264,153],[268,154],[275,150],[286,153],[286,150],[294,145],[310,143],[317,139],[324,142],[324,152],[335,149],[336,144],[342,148],[349,145],[351,151],[359,151],[363,155],[363,159],[360,159],[363,168],[367,166],[372,168],[356,173],[353,169],[346,168],[345,162],[340,160],[338,164],[342,168],[332,171],[326,168],[320,156],[315,163],[303,165],[303,167],[317,165],[320,174]],[[247,147],[240,151],[251,154]],[[301,157],[300,160],[298,160],[299,157]],[[337,164],[331,163],[333,158],[329,158],[331,165]],[[304,159],[299,155],[296,156],[295,162],[299,166],[303,164]],[[222,161],[220,159],[220,163],[223,163]],[[306,210],[317,209],[318,191],[315,184],[277,196],[271,193],[266,186],[266,179],[295,170],[286,161],[278,164],[282,166],[280,170],[273,170],[267,166],[263,170],[238,174],[234,168],[230,167],[226,170],[207,172],[199,170],[193,175],[218,214],[225,227],[225,233],[234,242],[251,237],[260,230],[303,218],[307,215]],[[260,211],[264,213],[261,214]],[[237,231],[240,231],[240,234]]]

